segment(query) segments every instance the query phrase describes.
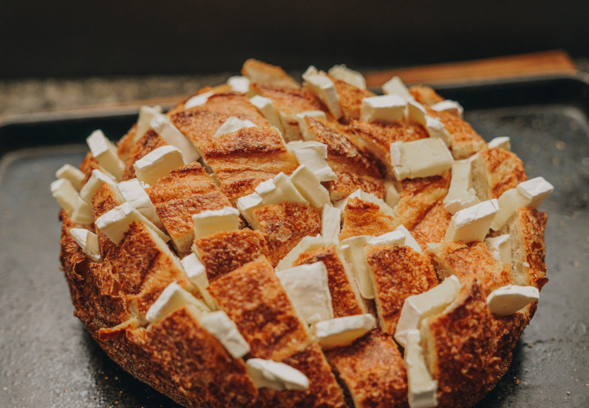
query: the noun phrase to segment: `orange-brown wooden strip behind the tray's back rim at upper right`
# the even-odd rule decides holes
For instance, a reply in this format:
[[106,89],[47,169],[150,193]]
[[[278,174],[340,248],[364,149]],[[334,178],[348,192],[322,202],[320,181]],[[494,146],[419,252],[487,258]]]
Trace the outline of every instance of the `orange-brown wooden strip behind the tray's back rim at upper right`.
[[557,74],[571,71],[575,71],[575,65],[568,54],[564,51],[554,50],[511,55],[509,57],[366,72],[365,78],[368,87],[379,87],[395,75],[400,77],[406,84],[435,84],[468,79]]

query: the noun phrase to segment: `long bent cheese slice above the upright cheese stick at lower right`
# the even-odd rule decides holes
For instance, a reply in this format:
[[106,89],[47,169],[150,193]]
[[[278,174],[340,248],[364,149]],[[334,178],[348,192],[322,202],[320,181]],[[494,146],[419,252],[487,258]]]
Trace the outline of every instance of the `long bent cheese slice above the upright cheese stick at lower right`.
[[406,298],[395,329],[397,343],[406,347],[409,331],[418,330],[423,319],[446,309],[460,291],[461,286],[458,277],[451,275],[438,286]]

